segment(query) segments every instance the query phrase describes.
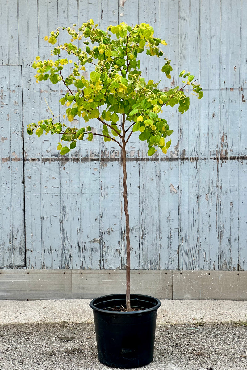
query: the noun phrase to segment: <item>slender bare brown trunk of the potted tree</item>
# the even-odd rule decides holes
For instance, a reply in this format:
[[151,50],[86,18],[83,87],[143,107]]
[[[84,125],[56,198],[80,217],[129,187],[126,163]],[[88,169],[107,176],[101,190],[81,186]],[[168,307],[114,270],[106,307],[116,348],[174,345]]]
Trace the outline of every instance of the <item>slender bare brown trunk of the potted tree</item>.
[[122,147],[123,160],[123,188],[124,188],[124,213],[126,222],[126,309],[130,312],[130,223],[128,217],[128,199],[127,199],[127,171],[126,171],[126,143]]

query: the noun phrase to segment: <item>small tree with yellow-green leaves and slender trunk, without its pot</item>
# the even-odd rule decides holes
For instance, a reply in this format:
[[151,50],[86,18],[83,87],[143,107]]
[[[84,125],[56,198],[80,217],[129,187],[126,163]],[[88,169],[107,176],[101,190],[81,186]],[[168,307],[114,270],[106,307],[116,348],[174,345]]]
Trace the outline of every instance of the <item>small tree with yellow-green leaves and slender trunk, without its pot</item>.
[[[164,105],[173,107],[178,104],[178,111],[183,114],[188,110],[190,104],[190,98],[185,95],[183,88],[191,85],[199,99],[203,96],[203,92],[200,85],[194,81],[194,76],[187,71],[180,73],[180,77],[184,79],[183,87],[176,86],[166,92],[159,90],[158,83],[153,80],[146,82],[141,77],[140,60],[137,60],[138,54],[145,50],[150,57],[160,58],[164,53],[159,46],[160,44],[166,45],[164,40],[153,36],[154,30],[149,24],[141,23],[131,27],[121,23],[117,26],[110,25],[107,31],[100,30],[97,26],[97,24],[94,25],[93,20],[89,20],[87,23],[83,23],[78,31],[74,27],[63,28],[70,35],[71,41],[54,47],[52,55],[57,55],[57,60],[41,61],[37,57],[33,63],[33,68],[37,69],[35,75],[37,81],[49,78],[53,84],[61,81],[66,86],[69,92],[60,99],[60,103],[67,107],[67,120],[72,122],[76,116],[83,117],[86,122],[85,127],[70,127],[61,122],[59,117],[55,118],[53,115],[47,120],[40,120],[37,124],[29,124],[27,132],[32,135],[35,131],[38,137],[44,132],[50,132],[51,135],[61,134],[61,141],[57,147],[61,155],[70,152],[71,149],[76,147],[78,141],[84,138],[91,141],[94,135],[102,136],[104,141],[113,140],[120,146],[126,220],[125,311],[129,313],[131,311],[130,225],[127,199],[126,144],[133,132],[139,132],[139,139],[147,141],[147,154],[149,156],[153,155],[158,149],[166,154],[171,144],[169,137],[173,131],[169,128],[167,121],[159,117],[159,113],[162,113],[162,107]],[[114,35],[113,38],[109,31]],[[59,29],[51,32],[51,36],[46,36],[45,40],[51,44],[56,44],[58,36]],[[76,46],[75,40],[81,42],[81,48]],[[96,45],[93,46],[93,44]],[[76,58],[73,72],[67,77],[64,77],[62,70],[64,65],[72,63],[72,60],[64,58],[64,53]],[[86,63],[95,66],[94,71],[90,73],[89,80],[82,73],[85,70],[84,65]],[[167,78],[171,78],[172,67],[166,56],[161,71],[166,74]],[[73,88],[71,88],[71,85]],[[77,90],[75,94],[72,92],[74,88]],[[100,122],[100,132],[92,131],[88,124],[93,118]],[[64,143],[68,144],[65,145]],[[110,364],[109,362],[105,363]],[[133,364],[131,363],[131,366]],[[138,363],[138,366],[141,365],[143,363]],[[113,363],[112,366],[116,366],[116,364]]]

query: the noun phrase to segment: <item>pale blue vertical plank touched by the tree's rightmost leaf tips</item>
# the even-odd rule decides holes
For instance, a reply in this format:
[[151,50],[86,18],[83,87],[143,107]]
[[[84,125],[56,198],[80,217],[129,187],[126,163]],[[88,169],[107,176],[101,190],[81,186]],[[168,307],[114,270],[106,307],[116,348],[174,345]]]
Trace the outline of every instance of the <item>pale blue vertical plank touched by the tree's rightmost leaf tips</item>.
[[206,91],[199,103],[199,268],[218,269],[218,151],[220,3],[200,4],[200,81]]

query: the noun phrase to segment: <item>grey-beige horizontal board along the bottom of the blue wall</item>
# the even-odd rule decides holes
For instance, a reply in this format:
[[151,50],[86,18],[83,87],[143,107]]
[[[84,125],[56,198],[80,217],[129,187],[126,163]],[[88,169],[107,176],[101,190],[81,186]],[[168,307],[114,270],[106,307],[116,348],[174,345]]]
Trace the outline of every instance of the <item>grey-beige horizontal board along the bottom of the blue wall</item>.
[[[125,270],[0,270],[0,299],[125,293]],[[247,300],[247,271],[131,270],[131,292],[159,299]]]

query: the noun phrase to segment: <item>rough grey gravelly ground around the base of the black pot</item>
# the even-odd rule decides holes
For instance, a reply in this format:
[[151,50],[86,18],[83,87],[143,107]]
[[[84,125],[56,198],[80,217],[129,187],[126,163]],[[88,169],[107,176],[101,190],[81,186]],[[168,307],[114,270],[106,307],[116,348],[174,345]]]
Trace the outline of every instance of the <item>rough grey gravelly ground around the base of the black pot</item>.
[[[142,369],[246,370],[246,324],[158,324],[154,360]],[[17,369],[110,368],[97,360],[93,324],[2,324],[0,370]]]

